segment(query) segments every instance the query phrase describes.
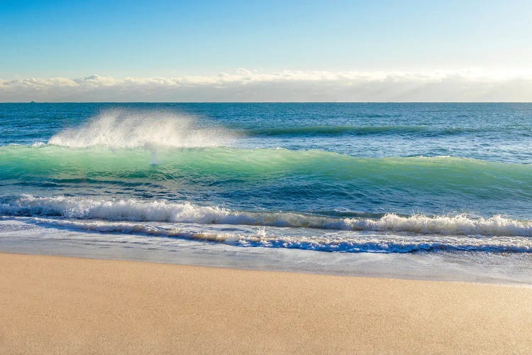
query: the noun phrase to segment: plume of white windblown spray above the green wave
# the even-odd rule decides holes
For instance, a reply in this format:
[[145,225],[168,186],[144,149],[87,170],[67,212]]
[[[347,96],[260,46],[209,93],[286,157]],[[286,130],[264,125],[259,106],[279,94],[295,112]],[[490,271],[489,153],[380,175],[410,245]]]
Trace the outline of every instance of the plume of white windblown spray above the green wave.
[[193,116],[165,111],[104,111],[82,126],[65,129],[48,143],[71,148],[204,147],[231,143],[226,129],[202,126]]

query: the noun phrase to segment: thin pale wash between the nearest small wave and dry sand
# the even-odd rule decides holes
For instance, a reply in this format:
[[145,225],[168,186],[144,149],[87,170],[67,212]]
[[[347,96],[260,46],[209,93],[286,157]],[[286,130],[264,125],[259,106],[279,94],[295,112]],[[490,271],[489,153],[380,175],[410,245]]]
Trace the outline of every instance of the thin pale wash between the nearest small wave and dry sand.
[[329,253],[57,229],[16,219],[4,222],[0,253],[532,287],[532,258],[528,253]]

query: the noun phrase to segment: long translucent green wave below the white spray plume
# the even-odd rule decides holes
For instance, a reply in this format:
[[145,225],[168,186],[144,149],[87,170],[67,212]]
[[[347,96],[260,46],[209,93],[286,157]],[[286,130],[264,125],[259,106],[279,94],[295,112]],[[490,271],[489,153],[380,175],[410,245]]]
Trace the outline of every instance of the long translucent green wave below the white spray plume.
[[322,186],[341,184],[345,193],[425,191],[524,201],[532,198],[531,175],[532,165],[456,157],[360,158],[326,151],[227,147],[155,152],[145,148],[0,147],[0,178],[26,184],[202,181],[219,185],[283,178],[290,179],[292,187],[309,179],[323,182]]

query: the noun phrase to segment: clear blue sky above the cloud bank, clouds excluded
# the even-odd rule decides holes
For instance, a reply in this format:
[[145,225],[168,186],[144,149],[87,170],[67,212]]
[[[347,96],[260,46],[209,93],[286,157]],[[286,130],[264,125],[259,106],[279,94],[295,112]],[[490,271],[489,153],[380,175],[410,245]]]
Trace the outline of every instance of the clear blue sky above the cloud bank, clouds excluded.
[[[528,70],[532,1],[1,1],[0,80]],[[1,99],[1,97],[0,97]]]

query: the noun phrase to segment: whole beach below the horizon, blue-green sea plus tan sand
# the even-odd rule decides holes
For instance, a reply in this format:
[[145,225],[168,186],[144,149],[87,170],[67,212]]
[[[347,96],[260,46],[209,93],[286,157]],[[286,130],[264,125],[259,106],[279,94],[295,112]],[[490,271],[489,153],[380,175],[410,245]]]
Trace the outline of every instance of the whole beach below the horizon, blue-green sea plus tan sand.
[[531,353],[531,118],[0,104],[0,353]]

